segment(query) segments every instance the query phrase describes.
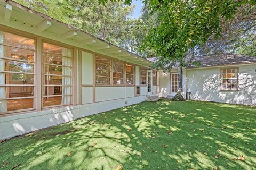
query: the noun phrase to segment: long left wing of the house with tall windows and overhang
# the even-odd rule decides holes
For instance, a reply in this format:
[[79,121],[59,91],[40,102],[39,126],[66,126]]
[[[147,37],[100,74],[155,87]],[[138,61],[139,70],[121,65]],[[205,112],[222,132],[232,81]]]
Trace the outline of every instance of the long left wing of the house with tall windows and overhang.
[[0,1],[0,140],[145,101],[158,93],[151,63]]

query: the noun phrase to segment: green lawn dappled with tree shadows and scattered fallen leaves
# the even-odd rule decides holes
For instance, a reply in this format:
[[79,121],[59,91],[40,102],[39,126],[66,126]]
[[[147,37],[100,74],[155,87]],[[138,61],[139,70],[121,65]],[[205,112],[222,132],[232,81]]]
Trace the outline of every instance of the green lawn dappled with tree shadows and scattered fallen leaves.
[[251,106],[143,102],[7,140],[0,169],[256,169],[255,120]]

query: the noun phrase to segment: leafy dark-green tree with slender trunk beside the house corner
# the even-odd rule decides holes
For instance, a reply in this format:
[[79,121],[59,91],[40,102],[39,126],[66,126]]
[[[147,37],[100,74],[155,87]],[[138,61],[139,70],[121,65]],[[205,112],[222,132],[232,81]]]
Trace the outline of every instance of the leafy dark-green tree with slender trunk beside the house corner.
[[[106,3],[107,0],[99,0]],[[115,1],[115,0],[113,0]],[[125,0],[130,4],[132,0]],[[157,12],[157,25],[143,40],[142,48],[151,47],[162,63],[179,62],[179,78],[189,49],[205,43],[210,36],[221,37],[221,21],[232,18],[239,7],[255,0],[145,0],[151,13]],[[169,66],[167,63],[167,66]],[[161,66],[161,65],[160,65]],[[169,67],[171,67],[169,66]],[[182,83],[174,99],[183,100]]]

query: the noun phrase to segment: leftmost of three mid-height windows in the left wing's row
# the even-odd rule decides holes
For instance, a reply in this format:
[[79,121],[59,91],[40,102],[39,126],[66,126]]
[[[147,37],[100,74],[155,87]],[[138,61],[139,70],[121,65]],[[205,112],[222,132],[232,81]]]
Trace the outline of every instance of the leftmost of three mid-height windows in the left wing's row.
[[111,60],[96,57],[96,84],[110,84]]

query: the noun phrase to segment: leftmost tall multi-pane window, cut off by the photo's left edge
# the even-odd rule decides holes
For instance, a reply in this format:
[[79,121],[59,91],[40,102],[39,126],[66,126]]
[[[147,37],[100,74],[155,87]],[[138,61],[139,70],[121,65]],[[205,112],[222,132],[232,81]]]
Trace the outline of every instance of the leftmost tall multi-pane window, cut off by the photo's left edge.
[[0,113],[34,109],[35,40],[0,31]]

